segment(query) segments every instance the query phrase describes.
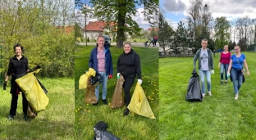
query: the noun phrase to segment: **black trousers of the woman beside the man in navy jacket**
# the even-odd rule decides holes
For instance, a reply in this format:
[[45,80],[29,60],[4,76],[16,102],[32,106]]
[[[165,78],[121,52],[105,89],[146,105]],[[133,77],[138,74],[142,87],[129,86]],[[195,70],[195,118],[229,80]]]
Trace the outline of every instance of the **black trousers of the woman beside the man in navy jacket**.
[[135,75],[132,76],[124,76],[125,83],[123,84],[123,88],[125,91],[125,102],[126,106],[130,104],[130,88],[135,83]]

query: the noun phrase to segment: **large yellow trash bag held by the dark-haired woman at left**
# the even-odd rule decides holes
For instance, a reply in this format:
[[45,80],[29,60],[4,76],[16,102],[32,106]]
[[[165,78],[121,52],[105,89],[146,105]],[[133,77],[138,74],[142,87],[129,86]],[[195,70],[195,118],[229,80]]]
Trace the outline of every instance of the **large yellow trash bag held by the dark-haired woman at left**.
[[25,98],[35,112],[45,110],[49,102],[43,88],[41,88],[38,80],[34,76],[34,73],[36,74],[38,72],[39,70],[36,70],[15,80],[22,92],[25,93]]

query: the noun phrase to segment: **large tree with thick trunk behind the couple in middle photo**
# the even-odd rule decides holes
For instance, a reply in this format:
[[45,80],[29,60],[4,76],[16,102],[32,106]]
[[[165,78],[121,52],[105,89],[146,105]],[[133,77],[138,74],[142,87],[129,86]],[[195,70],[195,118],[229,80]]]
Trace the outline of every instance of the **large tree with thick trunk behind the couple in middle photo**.
[[133,20],[137,6],[144,6],[145,20],[158,15],[159,0],[91,0],[94,14],[99,20],[113,21],[117,23],[117,47],[122,47],[125,34],[138,35],[139,25]]

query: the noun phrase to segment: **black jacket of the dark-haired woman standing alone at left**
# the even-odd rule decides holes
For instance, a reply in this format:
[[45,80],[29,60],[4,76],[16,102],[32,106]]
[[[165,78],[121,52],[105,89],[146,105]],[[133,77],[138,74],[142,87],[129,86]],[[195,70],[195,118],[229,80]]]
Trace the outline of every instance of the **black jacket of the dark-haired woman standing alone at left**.
[[29,70],[28,59],[22,56],[20,60],[16,56],[11,57],[7,70],[7,75],[11,75],[11,94],[21,92],[21,88],[16,84],[15,80],[26,74],[26,70]]

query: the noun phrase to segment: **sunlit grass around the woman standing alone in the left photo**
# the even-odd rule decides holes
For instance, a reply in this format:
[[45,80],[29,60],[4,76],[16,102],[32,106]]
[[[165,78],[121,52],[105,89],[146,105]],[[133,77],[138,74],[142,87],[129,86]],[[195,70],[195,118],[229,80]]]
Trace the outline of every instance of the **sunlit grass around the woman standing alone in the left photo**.
[[[48,89],[49,104],[34,120],[23,120],[22,97],[19,95],[15,120],[8,121],[11,94],[0,89],[0,139],[74,139],[74,79],[40,79]],[[9,83],[10,84],[10,83]]]

